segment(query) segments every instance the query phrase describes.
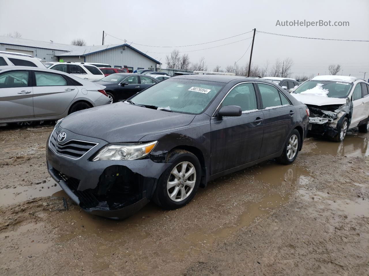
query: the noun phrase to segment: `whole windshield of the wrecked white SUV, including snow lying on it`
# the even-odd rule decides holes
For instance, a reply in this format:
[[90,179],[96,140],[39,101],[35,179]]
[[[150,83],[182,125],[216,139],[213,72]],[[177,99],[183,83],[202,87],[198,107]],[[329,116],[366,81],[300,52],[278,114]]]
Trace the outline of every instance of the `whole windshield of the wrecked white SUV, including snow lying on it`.
[[[319,95],[319,91],[326,94],[330,98],[346,98],[350,92],[352,84],[341,81],[306,81],[301,84],[293,93],[315,94]],[[308,90],[308,91],[307,91]],[[315,93],[316,91],[317,93]],[[310,93],[311,92],[311,93]],[[314,93],[313,93],[314,92]]]

